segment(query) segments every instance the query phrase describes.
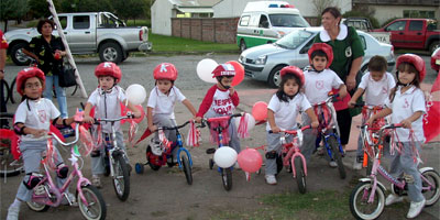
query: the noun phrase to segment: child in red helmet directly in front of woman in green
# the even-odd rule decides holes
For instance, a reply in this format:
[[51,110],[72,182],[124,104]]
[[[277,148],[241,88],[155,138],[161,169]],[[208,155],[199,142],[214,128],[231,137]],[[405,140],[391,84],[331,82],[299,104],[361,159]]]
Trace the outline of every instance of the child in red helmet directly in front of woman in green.
[[[316,103],[326,101],[328,94],[332,89],[339,89],[339,98],[342,99],[346,96],[346,87],[339,76],[329,66],[333,61],[333,50],[331,46],[324,43],[315,43],[309,52],[310,68],[307,69],[304,75],[306,82],[304,85],[304,90],[307,99],[314,106]],[[334,109],[331,110],[333,113]],[[310,119],[307,114],[302,114],[304,123],[309,124]],[[321,119],[319,119],[321,120]],[[337,123],[337,122],[336,122]],[[315,145],[316,135],[311,134],[311,131],[305,131],[304,144]],[[331,167],[337,167],[338,164],[331,160],[329,162]]]

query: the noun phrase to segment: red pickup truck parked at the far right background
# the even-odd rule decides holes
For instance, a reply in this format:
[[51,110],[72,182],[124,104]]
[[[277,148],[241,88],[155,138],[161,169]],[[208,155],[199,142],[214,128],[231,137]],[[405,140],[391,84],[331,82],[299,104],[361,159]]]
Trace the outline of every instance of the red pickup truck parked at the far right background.
[[396,19],[374,32],[391,32],[395,48],[427,50],[430,53],[440,46],[440,31],[432,19]]

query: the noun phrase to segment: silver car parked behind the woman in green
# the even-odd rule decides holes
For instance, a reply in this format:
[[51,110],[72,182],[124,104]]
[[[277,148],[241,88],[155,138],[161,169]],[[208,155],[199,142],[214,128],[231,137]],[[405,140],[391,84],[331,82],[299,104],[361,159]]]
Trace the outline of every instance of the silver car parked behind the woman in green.
[[[315,36],[322,28],[297,29],[273,44],[255,46],[244,51],[239,62],[244,66],[248,77],[267,81],[271,87],[278,87],[280,82],[279,70],[289,65],[304,68],[309,65],[308,50]],[[382,55],[388,63],[391,72],[395,65],[394,50],[389,44],[381,43],[370,34],[358,31],[365,51],[361,72],[367,72],[370,58]]]

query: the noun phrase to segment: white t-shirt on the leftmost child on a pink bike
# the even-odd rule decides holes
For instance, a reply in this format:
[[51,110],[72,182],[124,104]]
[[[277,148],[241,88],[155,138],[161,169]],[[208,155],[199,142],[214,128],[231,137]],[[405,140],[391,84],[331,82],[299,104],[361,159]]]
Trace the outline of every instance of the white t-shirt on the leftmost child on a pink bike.
[[[28,108],[28,103],[30,109]],[[61,116],[54,103],[45,98],[38,100],[24,100],[15,111],[15,123],[23,123],[31,129],[50,131],[51,121]],[[42,141],[44,136],[35,139],[33,134],[21,135],[22,141]]]

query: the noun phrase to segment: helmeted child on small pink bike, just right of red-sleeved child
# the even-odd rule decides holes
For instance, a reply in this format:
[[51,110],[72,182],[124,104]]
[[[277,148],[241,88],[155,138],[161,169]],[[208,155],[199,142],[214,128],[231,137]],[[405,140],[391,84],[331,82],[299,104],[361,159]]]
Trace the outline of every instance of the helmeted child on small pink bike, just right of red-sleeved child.
[[[299,90],[304,85],[302,70],[296,66],[286,66],[280,70],[280,85],[278,91],[272,96],[267,106],[267,153],[266,153],[266,183],[276,184],[276,157],[280,154],[279,131],[296,129],[296,118],[299,111],[306,111],[311,119],[311,128],[318,128],[319,122],[306,96]],[[292,136],[289,140],[292,141]],[[301,146],[301,153],[309,158],[314,147]]]

